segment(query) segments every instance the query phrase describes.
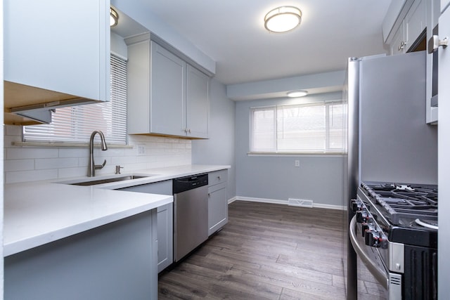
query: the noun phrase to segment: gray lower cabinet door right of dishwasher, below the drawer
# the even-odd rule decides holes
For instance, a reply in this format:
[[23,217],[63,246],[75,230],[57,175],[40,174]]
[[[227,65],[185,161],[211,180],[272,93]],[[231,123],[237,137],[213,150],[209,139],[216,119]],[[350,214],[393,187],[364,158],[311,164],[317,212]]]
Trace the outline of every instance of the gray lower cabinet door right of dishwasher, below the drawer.
[[208,188],[208,235],[228,223],[228,200],[226,199],[226,183]]

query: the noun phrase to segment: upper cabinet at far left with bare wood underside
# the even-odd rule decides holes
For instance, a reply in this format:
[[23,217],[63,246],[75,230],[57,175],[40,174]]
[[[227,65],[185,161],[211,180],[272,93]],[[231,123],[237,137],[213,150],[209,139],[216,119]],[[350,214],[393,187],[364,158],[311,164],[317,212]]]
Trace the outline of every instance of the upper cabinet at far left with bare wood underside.
[[[41,110],[108,101],[109,11],[109,0],[5,0],[6,112],[45,119]],[[5,115],[6,124],[27,121]]]

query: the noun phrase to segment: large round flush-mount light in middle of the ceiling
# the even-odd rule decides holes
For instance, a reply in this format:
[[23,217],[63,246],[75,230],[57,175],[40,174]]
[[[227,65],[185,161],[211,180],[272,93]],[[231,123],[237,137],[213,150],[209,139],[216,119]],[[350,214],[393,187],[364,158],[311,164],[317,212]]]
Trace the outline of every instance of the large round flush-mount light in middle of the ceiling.
[[302,11],[294,6],[280,6],[264,17],[264,27],[269,32],[288,32],[300,25]]

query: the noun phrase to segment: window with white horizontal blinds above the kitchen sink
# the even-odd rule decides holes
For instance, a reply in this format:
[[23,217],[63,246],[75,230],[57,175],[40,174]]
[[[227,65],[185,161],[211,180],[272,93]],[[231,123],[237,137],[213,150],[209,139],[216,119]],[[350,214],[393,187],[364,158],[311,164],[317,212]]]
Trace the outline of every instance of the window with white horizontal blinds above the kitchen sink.
[[50,124],[23,126],[23,141],[86,143],[101,130],[108,144],[127,144],[127,61],[111,55],[110,97],[105,103],[57,108]]

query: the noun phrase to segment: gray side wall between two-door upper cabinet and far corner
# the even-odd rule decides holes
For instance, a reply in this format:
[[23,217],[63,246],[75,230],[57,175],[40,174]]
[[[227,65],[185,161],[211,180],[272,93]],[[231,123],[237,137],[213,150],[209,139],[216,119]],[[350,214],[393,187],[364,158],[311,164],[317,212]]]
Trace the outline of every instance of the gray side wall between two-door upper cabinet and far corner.
[[193,164],[231,165],[227,197],[236,196],[235,148],[236,103],[226,96],[226,87],[219,81],[210,81],[210,138],[192,141]]

